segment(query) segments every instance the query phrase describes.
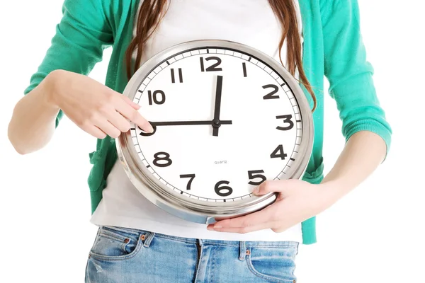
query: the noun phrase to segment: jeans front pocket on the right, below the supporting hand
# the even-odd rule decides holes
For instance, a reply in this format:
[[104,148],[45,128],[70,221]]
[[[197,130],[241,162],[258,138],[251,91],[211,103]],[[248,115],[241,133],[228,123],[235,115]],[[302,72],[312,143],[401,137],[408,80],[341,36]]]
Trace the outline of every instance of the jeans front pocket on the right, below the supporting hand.
[[297,247],[249,248],[246,263],[257,277],[269,282],[295,283]]

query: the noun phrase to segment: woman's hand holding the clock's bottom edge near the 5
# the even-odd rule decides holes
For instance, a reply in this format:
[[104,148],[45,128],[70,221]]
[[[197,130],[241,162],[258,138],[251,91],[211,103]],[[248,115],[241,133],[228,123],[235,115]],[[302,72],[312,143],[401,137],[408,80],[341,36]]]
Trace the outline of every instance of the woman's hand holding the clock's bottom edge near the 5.
[[276,233],[316,216],[336,202],[335,190],[329,183],[310,184],[303,180],[266,181],[254,190],[255,195],[278,192],[276,201],[268,207],[246,216],[217,221],[208,230],[249,233],[271,229]]

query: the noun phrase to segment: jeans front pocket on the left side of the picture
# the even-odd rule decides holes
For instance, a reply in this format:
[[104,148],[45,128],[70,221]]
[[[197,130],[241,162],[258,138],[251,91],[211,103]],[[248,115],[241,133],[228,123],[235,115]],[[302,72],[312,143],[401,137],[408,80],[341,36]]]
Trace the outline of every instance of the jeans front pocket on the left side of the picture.
[[90,258],[97,260],[125,260],[132,258],[143,245],[145,235],[126,231],[126,229],[114,229],[110,226],[99,228],[90,250]]

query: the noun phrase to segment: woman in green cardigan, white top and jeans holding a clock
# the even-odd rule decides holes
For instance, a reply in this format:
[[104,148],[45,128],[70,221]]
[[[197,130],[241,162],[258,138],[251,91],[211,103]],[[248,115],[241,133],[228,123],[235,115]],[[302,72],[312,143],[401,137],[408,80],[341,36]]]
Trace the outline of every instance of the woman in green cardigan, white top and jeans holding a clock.
[[[117,163],[114,144],[129,120],[152,129],[121,94],[135,69],[167,47],[201,39],[240,42],[281,62],[305,86],[315,129],[302,180],[262,183],[255,193],[278,192],[275,203],[209,226],[171,216],[142,197]],[[106,47],[113,52],[104,86],[87,75]],[[390,147],[372,74],[356,0],[65,0],[8,134],[20,154],[37,151],[65,114],[98,138],[89,188],[99,229],[86,282],[295,282],[298,244],[316,242],[314,216],[373,173]],[[346,138],[326,177],[324,76]]]

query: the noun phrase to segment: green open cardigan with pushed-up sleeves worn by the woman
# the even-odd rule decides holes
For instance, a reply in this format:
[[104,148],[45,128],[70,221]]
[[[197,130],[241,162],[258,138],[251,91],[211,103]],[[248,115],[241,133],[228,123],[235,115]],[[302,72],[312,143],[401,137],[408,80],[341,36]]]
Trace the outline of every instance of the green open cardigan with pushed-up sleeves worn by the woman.
[[[172,0],[171,0],[172,1]],[[367,130],[379,134],[390,148],[392,129],[385,119],[373,84],[373,67],[366,61],[356,0],[299,0],[304,36],[303,66],[317,96],[314,146],[303,180],[320,183],[323,178],[324,76],[329,95],[336,101],[342,134]],[[55,69],[87,75],[102,59],[103,50],[113,47],[106,86],[123,93],[126,83],[125,50],[132,39],[133,21],[139,0],[64,0],[63,17],[38,71],[24,91],[29,93]],[[302,87],[303,88],[303,87]],[[303,88],[312,105],[310,94]],[[56,126],[62,119],[57,116]],[[89,154],[93,164],[88,183],[91,213],[102,199],[106,178],[116,161],[115,140],[98,139]],[[316,240],[315,217],[302,223],[303,243]]]

